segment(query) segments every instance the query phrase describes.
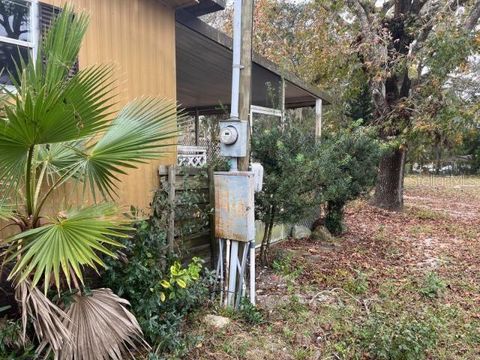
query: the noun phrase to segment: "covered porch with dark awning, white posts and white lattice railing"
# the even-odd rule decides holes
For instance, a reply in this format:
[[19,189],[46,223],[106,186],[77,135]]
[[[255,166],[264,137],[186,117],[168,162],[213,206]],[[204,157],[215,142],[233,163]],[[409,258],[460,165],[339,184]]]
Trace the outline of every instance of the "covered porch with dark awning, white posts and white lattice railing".
[[[232,39],[177,10],[176,57],[177,100],[191,117],[179,142],[179,164],[205,164],[217,152],[215,122],[229,117]],[[315,136],[321,136],[322,109],[330,103],[325,93],[255,53],[251,86],[252,127],[257,116],[281,121],[287,109],[314,108]]]

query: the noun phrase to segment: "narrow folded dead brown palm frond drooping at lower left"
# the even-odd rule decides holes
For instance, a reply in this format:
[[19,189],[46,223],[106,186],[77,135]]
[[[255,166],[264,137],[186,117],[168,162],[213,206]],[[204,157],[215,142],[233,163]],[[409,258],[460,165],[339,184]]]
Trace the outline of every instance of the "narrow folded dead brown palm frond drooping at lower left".
[[22,311],[22,342],[27,341],[28,319],[33,323],[40,342],[38,352],[47,345],[55,352],[72,342],[69,319],[65,312],[52,303],[38,288],[22,281],[15,289],[15,298]]

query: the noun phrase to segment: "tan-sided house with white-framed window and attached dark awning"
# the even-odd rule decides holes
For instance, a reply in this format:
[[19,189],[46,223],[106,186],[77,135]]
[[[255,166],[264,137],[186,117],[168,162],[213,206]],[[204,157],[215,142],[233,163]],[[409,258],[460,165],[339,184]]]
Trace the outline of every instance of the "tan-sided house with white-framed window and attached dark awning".
[[[198,19],[222,10],[223,0],[1,0],[0,65],[4,72],[0,82],[8,84],[6,74],[14,70],[14,60],[35,54],[40,34],[65,2],[91,16],[78,68],[113,64],[119,106],[145,95],[176,99],[197,120],[200,114],[218,112],[220,104],[229,106],[231,39]],[[280,95],[280,109],[269,107],[267,84],[273,84]],[[285,108],[316,106],[321,114],[322,101],[327,101],[325,94],[258,55],[254,56],[252,87],[252,112],[282,116]],[[159,165],[175,162],[172,144],[168,156],[129,171],[120,179],[120,203],[147,208],[158,187]],[[80,194],[78,201],[83,201]]]

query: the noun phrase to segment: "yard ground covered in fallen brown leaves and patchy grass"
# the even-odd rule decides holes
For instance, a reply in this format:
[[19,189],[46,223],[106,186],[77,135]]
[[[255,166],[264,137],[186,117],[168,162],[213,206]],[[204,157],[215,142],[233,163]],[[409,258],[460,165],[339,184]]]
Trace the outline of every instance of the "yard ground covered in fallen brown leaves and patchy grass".
[[197,314],[187,358],[480,359],[480,178],[407,178],[403,212],[357,201],[346,225],[276,246],[259,312]]

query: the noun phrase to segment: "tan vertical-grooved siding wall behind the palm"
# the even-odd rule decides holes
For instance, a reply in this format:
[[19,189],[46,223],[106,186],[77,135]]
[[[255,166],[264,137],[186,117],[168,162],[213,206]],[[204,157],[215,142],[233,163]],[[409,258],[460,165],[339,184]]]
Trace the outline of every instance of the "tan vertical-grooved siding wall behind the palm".
[[[42,2],[61,6],[65,1]],[[144,95],[175,99],[175,12],[172,8],[159,0],[68,2],[86,11],[91,18],[80,52],[80,68],[113,64],[118,80],[119,106]],[[175,157],[175,147],[172,146],[170,154],[161,160],[129,170],[127,176],[121,177],[119,204],[148,209],[153,191],[158,186],[158,166],[171,164]],[[80,190],[72,192],[69,189],[58,194],[55,209],[68,205],[66,193],[70,196],[75,193],[77,203],[88,201]]]

